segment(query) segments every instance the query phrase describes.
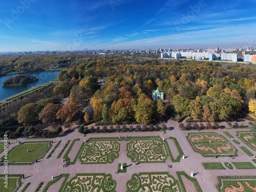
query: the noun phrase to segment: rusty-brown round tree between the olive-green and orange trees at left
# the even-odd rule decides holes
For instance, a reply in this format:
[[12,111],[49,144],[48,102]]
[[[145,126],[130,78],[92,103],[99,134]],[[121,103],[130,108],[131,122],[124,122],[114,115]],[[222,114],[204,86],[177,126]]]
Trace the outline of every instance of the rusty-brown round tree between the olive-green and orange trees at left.
[[56,114],[60,110],[59,104],[48,103],[44,109],[39,113],[39,119],[44,122],[56,122]]

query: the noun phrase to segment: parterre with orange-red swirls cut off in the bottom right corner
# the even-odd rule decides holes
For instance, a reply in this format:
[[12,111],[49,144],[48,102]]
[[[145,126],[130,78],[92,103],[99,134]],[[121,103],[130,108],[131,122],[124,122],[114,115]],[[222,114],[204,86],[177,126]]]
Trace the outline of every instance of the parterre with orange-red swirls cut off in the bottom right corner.
[[256,191],[256,176],[220,176],[217,188],[221,192]]

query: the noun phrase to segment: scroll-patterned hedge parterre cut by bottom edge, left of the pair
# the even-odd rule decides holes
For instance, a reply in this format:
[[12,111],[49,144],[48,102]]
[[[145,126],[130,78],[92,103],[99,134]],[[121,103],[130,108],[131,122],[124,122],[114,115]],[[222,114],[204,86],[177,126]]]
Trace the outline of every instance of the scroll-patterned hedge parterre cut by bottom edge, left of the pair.
[[115,192],[116,181],[110,174],[77,174],[66,185],[65,192]]

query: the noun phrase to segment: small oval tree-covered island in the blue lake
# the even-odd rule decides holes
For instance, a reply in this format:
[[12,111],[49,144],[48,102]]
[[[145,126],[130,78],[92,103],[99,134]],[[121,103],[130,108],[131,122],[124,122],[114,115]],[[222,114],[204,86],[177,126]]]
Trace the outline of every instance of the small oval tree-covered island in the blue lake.
[[4,82],[2,82],[2,84],[4,86],[21,86],[23,84],[32,83],[38,80],[39,78],[36,78],[36,76],[16,75],[15,77],[11,77],[5,80]]

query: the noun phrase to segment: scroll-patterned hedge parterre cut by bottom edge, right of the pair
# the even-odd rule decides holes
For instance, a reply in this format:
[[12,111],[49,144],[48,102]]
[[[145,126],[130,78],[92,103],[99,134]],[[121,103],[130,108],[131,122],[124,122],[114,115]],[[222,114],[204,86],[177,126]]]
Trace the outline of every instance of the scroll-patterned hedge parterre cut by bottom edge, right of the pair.
[[139,173],[133,174],[132,179],[126,183],[126,192],[154,191],[170,192],[181,191],[178,182],[168,172],[165,173]]

